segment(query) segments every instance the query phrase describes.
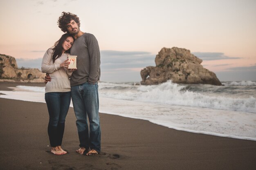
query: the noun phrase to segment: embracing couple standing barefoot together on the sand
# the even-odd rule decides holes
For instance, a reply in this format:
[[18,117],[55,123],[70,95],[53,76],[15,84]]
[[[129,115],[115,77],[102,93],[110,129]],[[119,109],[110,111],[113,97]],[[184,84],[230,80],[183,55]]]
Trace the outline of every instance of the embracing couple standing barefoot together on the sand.
[[[54,155],[67,153],[61,144],[72,98],[80,141],[80,148],[76,152],[87,156],[97,155],[101,151],[99,44],[94,35],[80,30],[80,20],[75,14],[62,12],[58,26],[65,34],[46,51],[41,66],[42,72],[47,73],[45,102],[49,112],[51,152]],[[77,69],[68,69],[68,55],[77,56]]]

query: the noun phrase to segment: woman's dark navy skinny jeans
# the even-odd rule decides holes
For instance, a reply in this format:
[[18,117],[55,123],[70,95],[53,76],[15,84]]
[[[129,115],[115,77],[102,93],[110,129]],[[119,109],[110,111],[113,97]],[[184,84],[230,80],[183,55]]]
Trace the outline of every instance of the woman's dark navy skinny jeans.
[[48,135],[51,147],[61,146],[65,129],[65,118],[70,107],[71,92],[45,93],[49,112]]

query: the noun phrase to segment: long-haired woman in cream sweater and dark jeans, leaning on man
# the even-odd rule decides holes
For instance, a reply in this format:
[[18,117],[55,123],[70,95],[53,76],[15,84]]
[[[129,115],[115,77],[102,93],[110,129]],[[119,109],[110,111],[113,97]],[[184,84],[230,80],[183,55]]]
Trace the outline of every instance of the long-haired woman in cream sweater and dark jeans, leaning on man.
[[42,72],[49,73],[52,77],[45,86],[45,102],[49,112],[48,135],[54,155],[67,153],[61,148],[61,143],[71,99],[69,76],[72,71],[67,69],[67,56],[73,43],[71,34],[63,34],[54,46],[46,51],[42,60]]

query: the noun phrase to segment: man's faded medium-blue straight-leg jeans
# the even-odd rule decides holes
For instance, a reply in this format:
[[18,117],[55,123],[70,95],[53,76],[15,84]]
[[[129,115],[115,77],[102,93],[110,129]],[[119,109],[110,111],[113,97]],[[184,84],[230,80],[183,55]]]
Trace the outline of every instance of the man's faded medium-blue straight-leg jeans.
[[[88,82],[71,87],[80,147],[101,151],[98,84]],[[90,122],[90,130],[88,121]]]

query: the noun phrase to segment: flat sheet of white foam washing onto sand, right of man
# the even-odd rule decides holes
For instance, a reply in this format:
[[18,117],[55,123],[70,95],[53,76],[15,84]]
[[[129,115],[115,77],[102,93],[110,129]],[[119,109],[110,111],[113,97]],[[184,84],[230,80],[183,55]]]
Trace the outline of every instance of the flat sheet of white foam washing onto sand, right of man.
[[176,130],[256,141],[256,114],[188,106],[169,106],[100,98],[100,112],[135,119]]

